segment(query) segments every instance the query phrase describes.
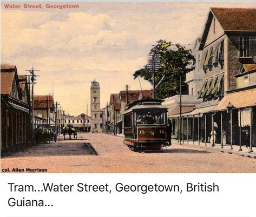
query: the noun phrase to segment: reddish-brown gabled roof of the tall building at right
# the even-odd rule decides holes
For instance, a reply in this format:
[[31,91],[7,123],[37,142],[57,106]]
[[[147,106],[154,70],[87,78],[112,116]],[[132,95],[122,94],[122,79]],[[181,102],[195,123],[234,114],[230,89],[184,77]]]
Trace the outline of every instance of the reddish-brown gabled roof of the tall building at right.
[[215,17],[225,32],[256,32],[256,9],[255,8],[211,8],[199,50],[204,48],[212,19]]

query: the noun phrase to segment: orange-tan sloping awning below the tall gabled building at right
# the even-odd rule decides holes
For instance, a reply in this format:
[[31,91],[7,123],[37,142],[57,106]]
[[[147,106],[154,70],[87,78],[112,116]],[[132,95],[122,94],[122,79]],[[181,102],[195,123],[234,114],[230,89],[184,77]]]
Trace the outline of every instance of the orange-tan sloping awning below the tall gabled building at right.
[[214,111],[224,111],[228,103],[234,108],[244,108],[256,105],[256,89],[228,93],[220,103],[214,108]]

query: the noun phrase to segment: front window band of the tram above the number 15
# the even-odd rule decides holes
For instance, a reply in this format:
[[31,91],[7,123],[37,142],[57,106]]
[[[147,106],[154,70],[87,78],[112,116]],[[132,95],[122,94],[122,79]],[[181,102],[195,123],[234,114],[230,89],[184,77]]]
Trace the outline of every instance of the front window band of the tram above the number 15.
[[137,112],[136,124],[165,124],[165,113],[163,112]]

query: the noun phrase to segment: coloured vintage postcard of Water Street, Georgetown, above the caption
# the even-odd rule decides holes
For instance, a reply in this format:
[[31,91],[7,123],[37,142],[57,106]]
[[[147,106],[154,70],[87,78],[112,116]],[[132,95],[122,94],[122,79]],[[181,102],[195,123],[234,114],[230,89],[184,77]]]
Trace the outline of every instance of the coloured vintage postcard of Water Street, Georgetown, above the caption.
[[255,173],[256,2],[1,2],[2,173]]

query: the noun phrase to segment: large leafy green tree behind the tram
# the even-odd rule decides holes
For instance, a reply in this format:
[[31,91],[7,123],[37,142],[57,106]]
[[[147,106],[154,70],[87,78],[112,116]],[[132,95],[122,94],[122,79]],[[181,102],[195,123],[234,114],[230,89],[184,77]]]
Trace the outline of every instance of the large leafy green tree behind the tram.
[[149,56],[148,64],[133,74],[134,79],[142,77],[152,84],[152,72],[155,66],[155,84],[159,84],[155,89],[156,98],[164,99],[178,94],[180,76],[182,84],[185,84],[186,73],[194,70],[195,59],[192,51],[180,44],[161,39],[150,50]]

